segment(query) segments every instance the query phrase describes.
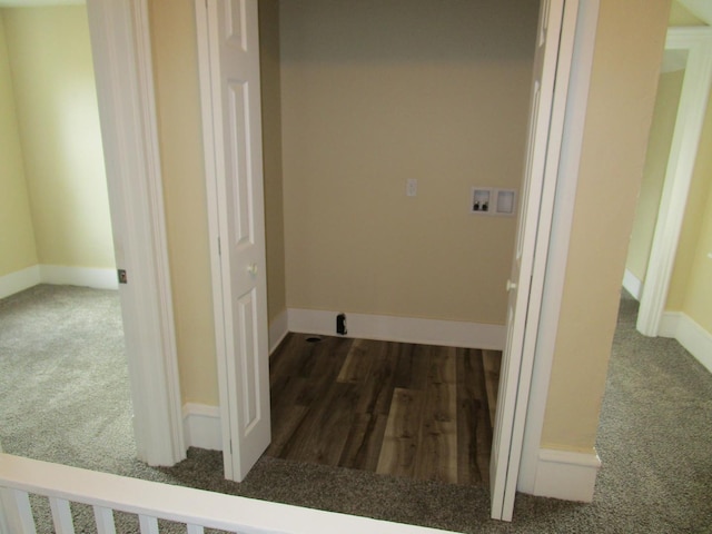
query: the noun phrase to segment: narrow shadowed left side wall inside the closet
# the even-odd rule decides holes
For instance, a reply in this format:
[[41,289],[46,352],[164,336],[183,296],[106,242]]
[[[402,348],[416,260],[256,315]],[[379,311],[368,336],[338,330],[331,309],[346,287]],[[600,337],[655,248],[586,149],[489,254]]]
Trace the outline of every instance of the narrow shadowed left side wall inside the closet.
[[267,234],[267,312],[271,323],[287,307],[281,168],[281,82],[279,0],[259,2],[259,62],[263,99],[265,229]]

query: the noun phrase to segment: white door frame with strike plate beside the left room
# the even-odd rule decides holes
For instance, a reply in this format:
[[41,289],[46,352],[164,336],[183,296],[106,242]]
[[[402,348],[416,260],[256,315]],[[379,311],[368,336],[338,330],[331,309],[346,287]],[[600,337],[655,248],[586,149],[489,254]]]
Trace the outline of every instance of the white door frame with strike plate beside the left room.
[[138,457],[186,457],[147,0],[88,0]]

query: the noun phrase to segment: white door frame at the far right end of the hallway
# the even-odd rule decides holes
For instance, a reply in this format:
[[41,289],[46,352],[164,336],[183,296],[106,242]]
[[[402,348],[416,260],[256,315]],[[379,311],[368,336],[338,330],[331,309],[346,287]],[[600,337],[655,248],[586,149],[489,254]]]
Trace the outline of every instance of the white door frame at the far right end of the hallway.
[[688,51],[688,62],[637,313],[636,327],[645,336],[660,332],[675,265],[712,82],[712,28],[670,28],[665,50]]

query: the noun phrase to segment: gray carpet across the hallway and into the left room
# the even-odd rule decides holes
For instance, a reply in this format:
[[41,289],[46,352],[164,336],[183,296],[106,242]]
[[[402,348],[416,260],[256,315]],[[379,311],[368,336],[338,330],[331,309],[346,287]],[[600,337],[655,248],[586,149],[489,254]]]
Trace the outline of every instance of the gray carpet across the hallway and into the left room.
[[[236,484],[222,479],[219,453],[200,449],[171,468],[145,466],[132,457],[112,291],[38,286],[0,301],[0,441],[33,458],[456,532],[712,532],[712,375],[676,342],[639,335],[636,312],[622,299],[594,503],[518,495],[512,524],[487,518],[479,486],[268,457]],[[39,531],[49,528],[43,503],[33,506]],[[90,524],[88,510],[76,513]],[[179,532],[172,526],[165,532]],[[118,530],[137,532],[135,520],[120,517]]]

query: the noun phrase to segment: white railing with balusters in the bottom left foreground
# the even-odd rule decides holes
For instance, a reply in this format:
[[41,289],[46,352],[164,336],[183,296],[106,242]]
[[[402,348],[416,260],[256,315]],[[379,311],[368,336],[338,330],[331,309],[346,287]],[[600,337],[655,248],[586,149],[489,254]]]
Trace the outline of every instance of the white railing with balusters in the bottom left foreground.
[[0,531],[7,534],[34,534],[30,494],[49,498],[57,534],[75,533],[70,503],[93,506],[99,534],[117,532],[113,511],[138,516],[141,534],[158,534],[158,520],[181,523],[188,534],[202,534],[205,527],[240,534],[445,532],[139,481],[3,453],[0,492]]

